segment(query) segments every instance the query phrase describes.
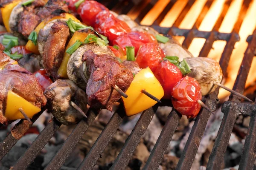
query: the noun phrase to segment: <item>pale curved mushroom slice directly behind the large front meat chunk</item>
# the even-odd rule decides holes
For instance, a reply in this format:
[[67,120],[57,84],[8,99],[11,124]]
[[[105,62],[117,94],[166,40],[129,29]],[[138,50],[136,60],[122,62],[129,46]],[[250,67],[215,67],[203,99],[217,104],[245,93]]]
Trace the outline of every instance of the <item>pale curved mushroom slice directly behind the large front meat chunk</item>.
[[[93,32],[91,32],[91,34],[93,34]],[[80,68],[83,63],[82,56],[84,52],[88,50],[92,50],[95,54],[106,54],[114,57],[114,54],[110,48],[108,48],[105,45],[100,46],[94,43],[81,45],[81,47],[79,47],[75,52],[73,52],[67,63],[67,75],[70,80],[75,82],[76,85],[78,85],[83,90],[86,89],[87,82],[85,82],[84,79],[82,79]],[[83,65],[85,65],[85,63]],[[84,66],[84,68],[85,67],[86,66]],[[86,76],[86,72],[83,72],[83,74]]]

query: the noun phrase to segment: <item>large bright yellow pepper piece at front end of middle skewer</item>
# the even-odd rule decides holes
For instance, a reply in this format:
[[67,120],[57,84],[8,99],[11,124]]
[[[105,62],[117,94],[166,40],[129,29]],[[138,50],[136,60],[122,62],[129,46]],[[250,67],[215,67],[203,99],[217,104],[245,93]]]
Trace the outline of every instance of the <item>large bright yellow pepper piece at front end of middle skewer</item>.
[[132,116],[140,113],[141,111],[145,111],[157,103],[153,99],[141,93],[143,89],[157,97],[157,99],[161,99],[164,95],[160,82],[156,77],[154,77],[150,68],[142,69],[136,74],[130,87],[125,93],[128,97],[126,99],[122,97],[127,116]]

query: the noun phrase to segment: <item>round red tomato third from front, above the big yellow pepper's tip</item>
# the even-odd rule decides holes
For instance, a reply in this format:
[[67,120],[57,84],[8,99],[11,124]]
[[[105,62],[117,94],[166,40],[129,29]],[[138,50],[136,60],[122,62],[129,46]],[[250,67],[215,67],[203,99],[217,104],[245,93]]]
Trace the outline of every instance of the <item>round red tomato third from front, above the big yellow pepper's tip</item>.
[[155,43],[147,43],[141,46],[137,53],[137,62],[140,68],[149,67],[151,71],[157,69],[160,61],[165,57],[163,50]]

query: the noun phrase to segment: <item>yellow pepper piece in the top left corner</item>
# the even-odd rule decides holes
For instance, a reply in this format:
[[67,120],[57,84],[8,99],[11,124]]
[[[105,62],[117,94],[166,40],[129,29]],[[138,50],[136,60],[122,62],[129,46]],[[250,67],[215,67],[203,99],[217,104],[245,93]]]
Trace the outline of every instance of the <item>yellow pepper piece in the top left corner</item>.
[[21,0],[15,0],[12,3],[9,3],[1,8],[1,13],[3,17],[3,24],[8,32],[11,32],[11,29],[9,27],[9,18],[12,13],[12,9],[20,3]]

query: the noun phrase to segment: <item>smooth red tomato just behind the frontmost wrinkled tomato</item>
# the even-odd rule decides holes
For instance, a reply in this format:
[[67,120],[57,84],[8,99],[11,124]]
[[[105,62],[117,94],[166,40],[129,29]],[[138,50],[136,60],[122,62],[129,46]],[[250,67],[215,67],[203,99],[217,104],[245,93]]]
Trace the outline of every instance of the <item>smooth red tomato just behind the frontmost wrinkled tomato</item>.
[[157,66],[157,69],[154,71],[154,76],[163,87],[163,99],[171,99],[173,87],[180,81],[180,79],[182,79],[180,69],[168,60],[164,60]]

